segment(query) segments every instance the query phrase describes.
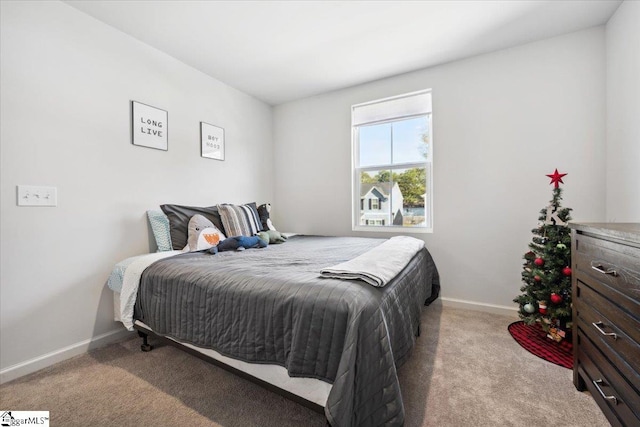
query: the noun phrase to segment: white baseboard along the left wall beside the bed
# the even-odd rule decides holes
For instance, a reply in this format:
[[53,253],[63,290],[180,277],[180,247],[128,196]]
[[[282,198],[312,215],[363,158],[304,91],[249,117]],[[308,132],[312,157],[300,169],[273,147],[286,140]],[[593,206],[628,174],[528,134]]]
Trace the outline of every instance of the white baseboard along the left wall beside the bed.
[[0,384],[13,381],[16,378],[20,378],[24,375],[39,371],[40,369],[49,367],[58,362],[62,362],[63,360],[67,360],[74,356],[86,353],[87,351],[94,348],[102,347],[103,345],[120,341],[130,336],[131,334],[132,332],[129,332],[125,329],[107,332],[88,340],[72,344],[56,351],[52,351],[51,353],[44,354],[31,360],[9,366],[8,368],[0,371]]

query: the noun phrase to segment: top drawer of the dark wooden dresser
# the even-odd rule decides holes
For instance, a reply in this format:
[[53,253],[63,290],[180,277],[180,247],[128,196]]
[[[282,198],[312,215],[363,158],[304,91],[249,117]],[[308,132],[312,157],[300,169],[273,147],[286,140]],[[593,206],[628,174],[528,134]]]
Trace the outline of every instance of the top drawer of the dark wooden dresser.
[[574,270],[606,283],[629,298],[640,298],[639,248],[584,235],[576,236],[575,240]]

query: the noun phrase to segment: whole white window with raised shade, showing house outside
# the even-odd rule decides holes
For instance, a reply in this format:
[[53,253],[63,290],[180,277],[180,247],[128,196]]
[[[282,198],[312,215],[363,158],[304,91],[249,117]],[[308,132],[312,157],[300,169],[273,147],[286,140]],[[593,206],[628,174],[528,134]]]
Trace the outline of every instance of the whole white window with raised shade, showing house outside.
[[353,229],[433,227],[431,91],[351,107]]

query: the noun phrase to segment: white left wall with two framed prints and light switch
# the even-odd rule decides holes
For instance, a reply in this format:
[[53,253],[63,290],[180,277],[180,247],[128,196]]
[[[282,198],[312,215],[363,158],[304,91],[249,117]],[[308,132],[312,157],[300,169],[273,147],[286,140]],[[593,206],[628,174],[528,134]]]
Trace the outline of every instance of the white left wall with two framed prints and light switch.
[[[7,380],[123,329],[105,281],[149,251],[147,209],[271,200],[273,141],[268,105],[64,3],[1,5]],[[168,151],[131,144],[130,100],[168,110]],[[225,129],[224,162],[200,157],[200,121]],[[17,207],[18,184],[58,207]]]

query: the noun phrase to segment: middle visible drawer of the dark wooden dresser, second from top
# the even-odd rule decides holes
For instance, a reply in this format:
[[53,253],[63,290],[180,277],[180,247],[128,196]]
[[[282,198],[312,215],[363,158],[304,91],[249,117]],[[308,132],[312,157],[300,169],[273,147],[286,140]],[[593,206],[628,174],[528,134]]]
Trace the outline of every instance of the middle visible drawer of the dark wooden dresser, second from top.
[[[574,324],[587,335],[593,344],[613,363],[636,390],[640,390],[640,323],[632,318],[627,322],[613,322],[617,318],[616,309],[608,300],[602,298],[588,286],[578,283],[578,294],[574,301],[577,319]],[[625,323],[623,330],[621,324]],[[631,328],[631,329],[629,329]],[[615,335],[613,335],[615,334]]]

